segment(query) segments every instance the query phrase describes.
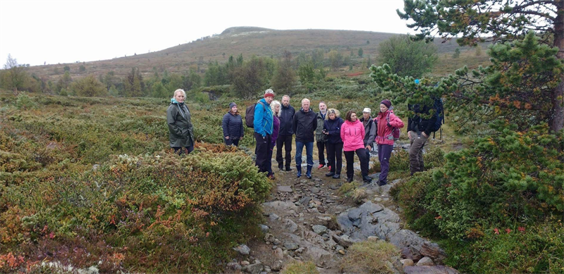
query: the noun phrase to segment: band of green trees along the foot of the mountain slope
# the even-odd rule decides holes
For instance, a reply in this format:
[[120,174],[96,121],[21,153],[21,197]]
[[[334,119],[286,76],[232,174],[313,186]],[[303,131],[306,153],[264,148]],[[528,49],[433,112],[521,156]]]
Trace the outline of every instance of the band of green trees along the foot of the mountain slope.
[[[407,36],[393,37],[382,43],[379,51],[381,57],[378,61],[396,63],[398,72],[417,77],[429,72],[437,59],[436,46],[412,42]],[[208,63],[204,72],[198,67],[178,74],[154,67],[150,76],[147,73],[144,76],[138,68],[132,68],[123,78],[109,71],[97,77],[86,75],[73,79],[70,68],[66,66],[63,75],[53,81],[27,75],[25,66],[18,65],[15,58],[8,56],[5,70],[0,70],[0,88],[63,96],[154,98],[168,98],[173,90],[181,88],[190,91],[189,98],[205,103],[223,94],[250,99],[270,87],[276,92],[295,94],[301,92],[296,90],[298,85],[299,89],[312,92],[319,82],[328,80],[329,69],[348,66],[349,70],[353,70],[356,66],[362,71],[371,65],[372,59],[364,54],[362,48],[350,49],[349,55],[336,50],[315,49],[309,53],[301,52],[295,58],[289,51],[284,51],[279,59],[258,56],[243,59],[242,54],[230,56],[226,63]],[[81,72],[85,73],[85,69]]]

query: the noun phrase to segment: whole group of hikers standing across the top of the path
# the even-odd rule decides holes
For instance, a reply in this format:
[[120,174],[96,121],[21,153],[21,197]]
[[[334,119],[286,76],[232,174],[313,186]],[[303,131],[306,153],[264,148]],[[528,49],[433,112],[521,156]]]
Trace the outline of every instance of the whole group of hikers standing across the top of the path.
[[[255,165],[259,172],[266,173],[274,179],[271,159],[276,147],[276,162],[278,169],[292,171],[291,151],[292,139],[295,135],[295,168],[298,178],[302,176],[302,151],[305,147],[307,168],[305,176],[312,178],[313,149],[316,142],[319,166],[327,166],[327,177],[341,178],[343,154],[346,161],[347,182],[354,178],[355,154],[360,161],[360,170],[364,182],[372,182],[368,176],[370,151],[374,142],[378,149],[381,166],[378,185],[386,185],[390,157],[393,144],[399,138],[403,121],[393,113],[391,101],[384,99],[380,102],[379,112],[373,117],[370,108],[362,110],[362,117],[356,111],[348,111],[345,119],[334,109],[327,109],[324,101],[319,102],[319,112],[315,113],[307,98],[302,99],[299,111],[290,106],[290,96],[284,95],[280,101],[274,100],[274,91],[266,89],[262,99],[247,108],[245,124],[254,129],[256,139]],[[186,94],[183,89],[174,92],[171,104],[166,111],[170,145],[177,154],[190,154],[194,149],[193,126],[190,121],[190,110],[184,103]],[[423,146],[427,142],[436,119],[423,119],[417,113],[429,113],[428,108],[415,106],[416,116],[409,118],[407,136],[410,138],[410,173],[423,171]],[[223,138],[227,145],[238,146],[244,136],[244,122],[240,116],[238,106],[229,104],[229,111],[222,120]],[[327,156],[325,158],[325,155]],[[327,160],[327,161],[326,161]]]

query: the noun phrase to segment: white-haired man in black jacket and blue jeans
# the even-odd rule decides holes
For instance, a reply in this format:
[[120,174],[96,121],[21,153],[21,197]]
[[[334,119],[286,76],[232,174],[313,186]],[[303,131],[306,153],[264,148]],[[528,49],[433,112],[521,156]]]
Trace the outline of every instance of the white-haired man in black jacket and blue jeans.
[[305,176],[312,178],[314,132],[317,128],[317,114],[309,108],[309,99],[302,99],[302,109],[295,113],[292,130],[295,132],[295,168],[298,178],[302,176],[302,151],[305,146],[307,156],[307,172]]

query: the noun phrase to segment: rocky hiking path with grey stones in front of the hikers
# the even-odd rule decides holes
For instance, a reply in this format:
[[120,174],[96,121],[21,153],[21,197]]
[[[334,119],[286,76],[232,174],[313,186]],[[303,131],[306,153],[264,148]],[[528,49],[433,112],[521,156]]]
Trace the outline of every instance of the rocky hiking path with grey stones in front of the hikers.
[[401,256],[386,262],[393,273],[458,273],[441,266],[446,254],[439,245],[402,228],[396,213],[400,208],[388,196],[399,180],[383,187],[362,186],[368,196],[358,206],[337,195],[345,179],[327,178],[326,172],[314,168],[311,180],[296,178],[295,170],[276,172],[271,199],[263,204],[264,239],[238,247],[238,258],[228,263],[226,274],[276,273],[297,260],[314,262],[319,273],[353,274],[341,270],[340,261],[348,247],[365,240],[385,240],[401,250]]

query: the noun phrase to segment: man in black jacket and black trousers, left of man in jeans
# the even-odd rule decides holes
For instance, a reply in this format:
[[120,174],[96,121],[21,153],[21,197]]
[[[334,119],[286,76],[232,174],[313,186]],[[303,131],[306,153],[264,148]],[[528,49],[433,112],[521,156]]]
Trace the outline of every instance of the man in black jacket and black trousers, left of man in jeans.
[[276,139],[276,162],[278,162],[278,168],[283,170],[284,158],[282,158],[282,147],[286,150],[286,171],[291,171],[290,161],[292,161],[292,135],[294,131],[292,130],[292,121],[294,119],[295,109],[290,106],[290,96],[282,96],[282,106],[280,108],[280,131],[278,132],[278,138]]

